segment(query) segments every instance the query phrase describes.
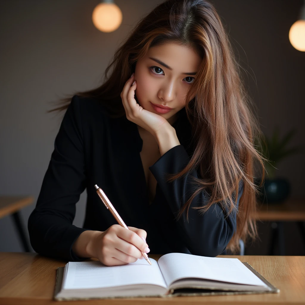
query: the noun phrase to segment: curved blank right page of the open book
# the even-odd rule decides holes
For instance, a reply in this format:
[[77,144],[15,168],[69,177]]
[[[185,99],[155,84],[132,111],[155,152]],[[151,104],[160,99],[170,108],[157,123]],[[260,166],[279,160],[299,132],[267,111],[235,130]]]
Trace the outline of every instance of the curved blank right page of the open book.
[[168,287],[181,278],[204,278],[267,287],[238,258],[168,253],[160,257],[158,264]]

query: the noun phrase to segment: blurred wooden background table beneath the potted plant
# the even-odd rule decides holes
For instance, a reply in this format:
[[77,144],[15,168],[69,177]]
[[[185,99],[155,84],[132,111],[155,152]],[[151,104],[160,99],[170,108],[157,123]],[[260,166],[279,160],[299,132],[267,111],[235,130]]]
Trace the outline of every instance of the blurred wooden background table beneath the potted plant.
[[269,255],[273,255],[275,243],[278,243],[279,254],[285,255],[284,222],[295,221],[300,229],[305,244],[305,199],[287,199],[283,203],[260,203],[257,213],[253,215],[257,221],[272,221],[271,243]]

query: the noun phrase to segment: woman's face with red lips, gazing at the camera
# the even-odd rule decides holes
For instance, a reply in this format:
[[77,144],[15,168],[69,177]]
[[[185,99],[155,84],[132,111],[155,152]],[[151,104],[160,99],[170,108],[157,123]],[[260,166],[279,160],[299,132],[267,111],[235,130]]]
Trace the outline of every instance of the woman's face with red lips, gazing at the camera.
[[[201,60],[192,49],[177,43],[151,47],[135,66],[135,95],[140,106],[172,124],[175,114],[185,106],[188,88],[195,80]],[[154,105],[171,109],[162,110]]]

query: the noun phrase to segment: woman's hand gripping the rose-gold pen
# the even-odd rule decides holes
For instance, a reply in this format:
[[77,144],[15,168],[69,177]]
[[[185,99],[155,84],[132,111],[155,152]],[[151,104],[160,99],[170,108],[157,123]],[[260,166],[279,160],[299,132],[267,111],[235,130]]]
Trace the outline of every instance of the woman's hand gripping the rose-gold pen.
[[141,251],[149,253],[145,241],[146,231],[134,227],[128,229],[113,224],[106,231],[95,235],[91,245],[94,257],[106,266],[134,263],[138,258],[144,258]]

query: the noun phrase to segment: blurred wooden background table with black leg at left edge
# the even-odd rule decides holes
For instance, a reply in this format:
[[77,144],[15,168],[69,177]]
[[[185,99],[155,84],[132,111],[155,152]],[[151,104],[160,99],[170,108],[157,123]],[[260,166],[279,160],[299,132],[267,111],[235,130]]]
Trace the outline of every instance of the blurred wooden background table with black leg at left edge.
[[30,252],[30,246],[19,211],[33,202],[34,198],[32,196],[0,196],[0,218],[11,214],[25,252]]

